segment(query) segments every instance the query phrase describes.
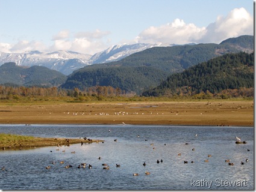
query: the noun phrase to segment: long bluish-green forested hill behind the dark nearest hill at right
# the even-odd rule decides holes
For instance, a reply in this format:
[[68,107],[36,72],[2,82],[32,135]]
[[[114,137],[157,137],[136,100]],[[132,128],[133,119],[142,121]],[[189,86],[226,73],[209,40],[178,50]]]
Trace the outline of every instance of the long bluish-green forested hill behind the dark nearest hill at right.
[[141,94],[154,88],[167,76],[206,62],[226,53],[248,53],[254,50],[254,37],[243,35],[220,44],[195,44],[172,47],[152,47],[134,53],[120,61],[93,64],[74,71],[62,88],[73,89],[90,86],[113,86]]

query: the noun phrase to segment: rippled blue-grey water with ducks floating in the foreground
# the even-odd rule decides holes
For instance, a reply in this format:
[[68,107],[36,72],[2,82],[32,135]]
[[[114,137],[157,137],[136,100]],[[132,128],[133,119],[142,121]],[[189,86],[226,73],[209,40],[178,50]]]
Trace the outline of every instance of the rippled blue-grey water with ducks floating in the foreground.
[[[0,151],[0,166],[6,167],[0,171],[2,190],[254,190],[253,127],[0,125],[0,133],[105,140],[59,151],[57,146]],[[236,136],[248,143],[236,145]],[[81,163],[92,169],[78,169]],[[103,163],[110,169],[102,169]],[[69,164],[73,167],[65,169]]]

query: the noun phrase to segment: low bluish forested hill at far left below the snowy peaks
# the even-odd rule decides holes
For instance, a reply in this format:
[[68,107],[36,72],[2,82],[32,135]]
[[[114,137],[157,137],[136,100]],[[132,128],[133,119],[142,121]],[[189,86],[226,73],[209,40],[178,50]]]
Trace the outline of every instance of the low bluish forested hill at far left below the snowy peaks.
[[0,66],[0,84],[41,86],[60,86],[66,81],[64,74],[41,66],[19,67],[14,62]]

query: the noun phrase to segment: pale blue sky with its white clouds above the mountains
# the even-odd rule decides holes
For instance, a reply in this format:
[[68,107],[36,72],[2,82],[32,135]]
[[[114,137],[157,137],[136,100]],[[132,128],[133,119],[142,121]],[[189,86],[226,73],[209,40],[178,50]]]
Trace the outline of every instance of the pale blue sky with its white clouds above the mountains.
[[0,0],[0,52],[220,43],[253,35],[252,0]]

